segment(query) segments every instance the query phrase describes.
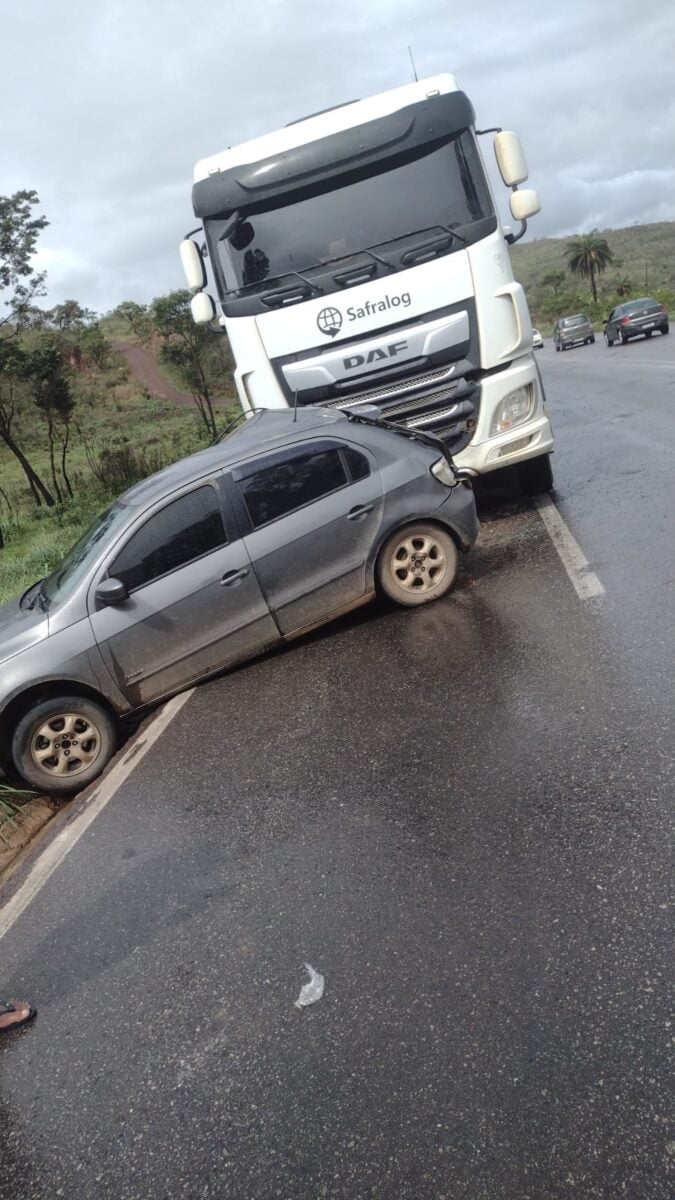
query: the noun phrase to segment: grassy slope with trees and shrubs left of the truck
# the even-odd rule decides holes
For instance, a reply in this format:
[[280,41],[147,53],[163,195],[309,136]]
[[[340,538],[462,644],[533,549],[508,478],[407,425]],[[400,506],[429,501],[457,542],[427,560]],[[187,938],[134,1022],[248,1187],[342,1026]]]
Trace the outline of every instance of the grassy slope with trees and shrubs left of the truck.
[[[185,292],[103,320],[76,300],[37,306],[37,203],[0,197],[0,602],[53,570],[126,487],[208,445],[234,403],[226,338],[189,322]],[[143,344],[192,403],[150,395],[113,337]]]

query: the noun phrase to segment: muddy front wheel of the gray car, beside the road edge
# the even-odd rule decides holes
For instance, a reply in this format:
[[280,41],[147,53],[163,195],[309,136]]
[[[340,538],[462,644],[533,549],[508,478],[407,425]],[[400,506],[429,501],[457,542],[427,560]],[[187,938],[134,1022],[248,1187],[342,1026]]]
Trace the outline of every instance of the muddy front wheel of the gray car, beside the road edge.
[[12,736],[12,761],[36,791],[62,796],[96,779],[117,744],[115,721],[102,704],[54,696],[22,716]]

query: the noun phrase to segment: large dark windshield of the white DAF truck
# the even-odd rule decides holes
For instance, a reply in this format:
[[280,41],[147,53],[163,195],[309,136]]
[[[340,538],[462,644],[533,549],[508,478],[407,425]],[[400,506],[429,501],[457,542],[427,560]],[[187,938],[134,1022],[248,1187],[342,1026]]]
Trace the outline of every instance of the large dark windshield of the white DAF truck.
[[[471,242],[471,227],[492,216],[492,202],[473,136],[465,131],[430,152],[377,174],[335,180],[299,200],[246,218],[245,239],[223,239],[226,218],[207,221],[213,260],[226,292],[383,247],[413,230],[458,228]],[[246,245],[237,248],[237,241]],[[234,242],[234,244],[233,244]],[[459,242],[458,242],[459,245]],[[406,246],[405,248],[410,248]],[[454,248],[454,247],[453,247]]]

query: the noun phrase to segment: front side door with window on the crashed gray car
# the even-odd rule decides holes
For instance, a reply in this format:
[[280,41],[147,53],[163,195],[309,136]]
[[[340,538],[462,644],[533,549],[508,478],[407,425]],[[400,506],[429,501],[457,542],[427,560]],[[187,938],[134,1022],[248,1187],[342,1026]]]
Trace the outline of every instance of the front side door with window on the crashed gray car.
[[[279,640],[245,544],[227,524],[214,481],[201,482],[137,522],[92,584],[94,636],[135,707]],[[129,599],[102,606],[96,587],[106,577]]]

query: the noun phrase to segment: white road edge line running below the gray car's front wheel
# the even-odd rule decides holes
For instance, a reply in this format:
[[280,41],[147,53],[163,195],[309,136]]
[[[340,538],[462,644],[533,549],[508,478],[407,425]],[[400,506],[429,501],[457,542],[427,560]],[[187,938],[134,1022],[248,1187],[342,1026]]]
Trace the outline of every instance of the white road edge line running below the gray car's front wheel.
[[167,725],[173,721],[174,716],[178,715],[183,706],[187,703],[193,691],[195,689],[191,688],[190,691],[180,692],[179,696],[174,696],[173,700],[169,700],[168,703],[160,709],[147,728],[143,730],[143,732],[139,733],[138,737],[135,738],[133,742],[126,748],[124,756],[104,776],[100,787],[95,788],[82,812],[74,817],[70,824],[65,826],[59,834],[56,834],[54,841],[49,842],[46,851],[37,859],[28,878],[24,880],[18,892],[14,893],[12,899],[8,900],[0,912],[0,941],[5,937],[5,934],[8,934],[14,922],[19,919],[22,912],[24,912],[29,904],[35,900],[38,892],[41,892],[47,883],[47,880],[54,874],[56,868],[60,866],[66,854],[70,853],[82,835],[86,833],[89,826],[112,800],[113,796],[121,787],[125,779],[131,775],[135,767],[137,767],[141,760],[148,754],[150,746],[153,746],[157,738],[165,732]]

